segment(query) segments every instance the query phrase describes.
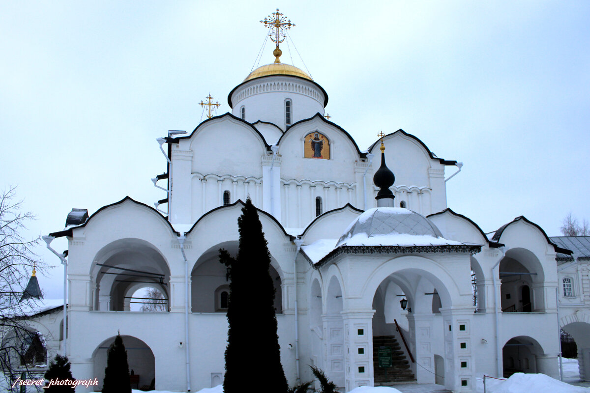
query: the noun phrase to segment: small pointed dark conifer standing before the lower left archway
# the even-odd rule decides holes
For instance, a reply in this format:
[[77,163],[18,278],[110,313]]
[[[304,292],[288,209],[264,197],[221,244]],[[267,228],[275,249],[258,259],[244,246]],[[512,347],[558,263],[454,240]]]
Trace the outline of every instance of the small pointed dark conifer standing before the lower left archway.
[[125,346],[123,345],[123,338],[118,334],[107,352],[103,393],[131,393],[127,351],[125,351]]

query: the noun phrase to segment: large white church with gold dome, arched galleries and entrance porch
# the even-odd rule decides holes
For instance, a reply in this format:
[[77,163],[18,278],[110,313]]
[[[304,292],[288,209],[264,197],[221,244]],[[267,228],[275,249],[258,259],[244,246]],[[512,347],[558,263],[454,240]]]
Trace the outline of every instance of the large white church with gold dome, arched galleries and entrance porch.
[[[320,84],[283,64],[278,42],[273,54],[229,93],[231,113],[159,140],[156,208],[125,197],[90,216],[74,209],[51,233],[69,244],[65,348],[60,314],[36,328],[74,377],[101,384],[120,331],[137,387],[222,383],[229,283],[218,250],[237,253],[249,196],[291,386],[313,379],[309,365],[343,392],[400,381],[473,392],[476,375],[513,372],[559,379],[560,327],[590,378],[588,255],[572,257],[525,217],[486,235],[447,206],[445,177],[460,163],[403,130],[362,150],[324,117]],[[162,311],[130,311],[143,288],[162,293]]]

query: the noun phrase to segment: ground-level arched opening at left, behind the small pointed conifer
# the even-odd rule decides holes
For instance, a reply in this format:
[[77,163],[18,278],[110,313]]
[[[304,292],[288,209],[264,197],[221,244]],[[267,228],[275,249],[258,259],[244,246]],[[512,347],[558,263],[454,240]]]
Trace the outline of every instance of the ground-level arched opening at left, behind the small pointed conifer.
[[[155,357],[152,349],[142,340],[133,336],[122,335],[123,345],[127,351],[127,364],[129,372],[133,371],[136,382],[132,384],[134,389],[153,390],[155,388],[156,367]],[[103,388],[104,369],[107,366],[107,351],[114,343],[114,337],[103,341],[94,349],[92,359],[94,361],[94,376],[99,381],[99,385],[94,387],[100,391]]]

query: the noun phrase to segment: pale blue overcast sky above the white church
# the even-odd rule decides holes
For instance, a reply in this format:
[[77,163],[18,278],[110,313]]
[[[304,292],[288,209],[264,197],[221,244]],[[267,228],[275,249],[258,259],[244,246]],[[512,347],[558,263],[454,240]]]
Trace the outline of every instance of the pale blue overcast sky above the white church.
[[[281,60],[309,70],[361,150],[402,128],[462,161],[448,206],[484,232],[590,219],[588,1],[1,1],[0,186],[37,214],[25,235],[63,229],[73,207],[165,197],[156,138],[192,131],[209,92],[230,110],[277,6],[303,62],[284,44]],[[40,277],[47,298],[62,274]]]

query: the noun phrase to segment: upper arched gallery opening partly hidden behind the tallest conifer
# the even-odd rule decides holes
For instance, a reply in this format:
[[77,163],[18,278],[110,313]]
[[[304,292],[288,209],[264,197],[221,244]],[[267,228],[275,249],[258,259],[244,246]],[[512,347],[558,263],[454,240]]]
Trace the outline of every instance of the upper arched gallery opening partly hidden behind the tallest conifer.
[[[225,249],[230,255],[236,256],[238,242],[219,243],[202,253],[201,257],[196,261],[191,272],[192,312],[227,312],[230,276],[225,265],[219,262],[219,249]],[[276,313],[282,313],[281,278],[273,266],[270,266],[270,276],[273,279],[275,289],[274,310]],[[225,307],[222,306],[224,304]]]

